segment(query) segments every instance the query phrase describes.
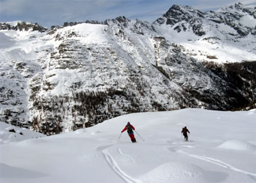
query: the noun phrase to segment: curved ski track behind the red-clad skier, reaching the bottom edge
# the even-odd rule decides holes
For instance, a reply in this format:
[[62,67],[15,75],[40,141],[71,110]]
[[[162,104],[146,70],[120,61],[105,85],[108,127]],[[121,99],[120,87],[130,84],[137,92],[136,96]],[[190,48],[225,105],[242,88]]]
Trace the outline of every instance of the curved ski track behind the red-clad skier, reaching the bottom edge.
[[132,177],[122,171],[113,157],[109,154],[108,149],[102,150],[102,153],[109,166],[117,173],[119,177],[121,177],[121,179],[125,180],[127,183],[142,183],[140,180],[132,179]]

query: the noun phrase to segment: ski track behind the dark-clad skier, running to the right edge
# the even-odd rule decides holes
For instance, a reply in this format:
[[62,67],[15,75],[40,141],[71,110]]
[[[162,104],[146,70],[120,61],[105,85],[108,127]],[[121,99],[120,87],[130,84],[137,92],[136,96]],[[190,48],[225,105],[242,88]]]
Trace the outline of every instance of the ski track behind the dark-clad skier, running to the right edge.
[[[182,148],[182,147],[180,147],[180,148]],[[231,165],[228,164],[228,163],[225,163],[225,162],[223,162],[223,161],[220,161],[219,159],[214,159],[214,158],[212,158],[212,157],[206,157],[206,156],[203,156],[203,155],[190,154],[190,153],[188,153],[188,152],[184,152],[184,151],[180,150],[180,148],[177,148],[177,152],[180,152],[180,153],[182,153],[182,154],[189,155],[190,157],[195,157],[195,158],[197,158],[197,159],[201,159],[201,160],[203,160],[203,161],[207,161],[207,162],[212,163],[212,164],[216,164],[216,165],[218,165],[218,166],[221,166],[221,167],[223,167],[223,168],[227,168],[227,169],[229,169],[229,170],[238,171],[238,172],[240,172],[240,173],[244,173],[244,174],[246,174],[246,175],[250,175],[250,176],[253,176],[253,177],[256,178],[256,173],[251,173],[251,172],[248,172],[248,171],[244,171],[244,170],[238,169],[238,168],[236,168],[236,167],[234,167],[234,166],[231,166]]]

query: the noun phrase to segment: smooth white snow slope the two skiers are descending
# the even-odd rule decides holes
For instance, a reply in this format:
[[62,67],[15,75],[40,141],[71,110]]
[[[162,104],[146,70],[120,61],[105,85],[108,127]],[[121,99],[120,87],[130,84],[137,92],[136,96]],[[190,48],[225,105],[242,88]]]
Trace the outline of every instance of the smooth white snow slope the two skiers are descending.
[[[140,134],[138,143],[127,132],[120,136],[127,122]],[[2,139],[0,182],[256,182],[255,122],[255,110],[182,109],[119,116],[44,138]],[[185,125],[189,141],[180,133]]]

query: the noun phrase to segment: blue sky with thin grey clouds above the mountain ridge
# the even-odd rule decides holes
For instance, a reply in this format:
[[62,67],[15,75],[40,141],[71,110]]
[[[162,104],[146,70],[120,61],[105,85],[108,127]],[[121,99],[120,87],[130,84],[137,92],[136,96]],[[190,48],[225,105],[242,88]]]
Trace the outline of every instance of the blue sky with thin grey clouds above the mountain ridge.
[[48,28],[63,22],[102,21],[118,16],[152,22],[173,4],[208,11],[238,2],[256,5],[256,0],[0,0],[0,22],[23,20]]

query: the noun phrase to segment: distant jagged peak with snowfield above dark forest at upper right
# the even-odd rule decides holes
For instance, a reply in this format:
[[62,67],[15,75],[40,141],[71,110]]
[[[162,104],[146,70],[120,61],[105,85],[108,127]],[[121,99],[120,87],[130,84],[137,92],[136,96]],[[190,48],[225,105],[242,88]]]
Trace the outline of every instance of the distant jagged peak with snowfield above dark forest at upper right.
[[250,33],[247,29],[255,29],[255,8],[246,8],[238,3],[216,11],[200,12],[189,6],[173,5],[154,24],[159,25],[156,29],[164,38],[184,46],[184,52],[196,60],[211,61],[209,56],[214,56],[218,63],[253,61],[255,31]]

